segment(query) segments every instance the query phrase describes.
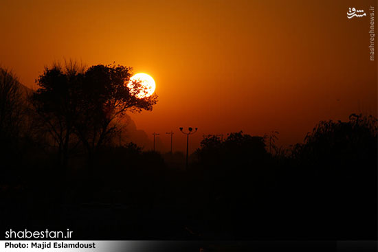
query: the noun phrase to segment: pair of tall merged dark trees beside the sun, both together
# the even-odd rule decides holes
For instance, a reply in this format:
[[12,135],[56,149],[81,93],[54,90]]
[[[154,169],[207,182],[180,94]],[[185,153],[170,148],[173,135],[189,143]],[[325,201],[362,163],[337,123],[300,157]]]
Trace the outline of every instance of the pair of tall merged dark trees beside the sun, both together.
[[118,129],[116,119],[126,111],[152,110],[157,95],[137,98],[145,87],[135,81],[129,89],[130,77],[128,67],[96,65],[85,70],[70,61],[65,69],[46,68],[36,80],[40,88],[32,95],[32,103],[58,146],[63,167],[67,167],[72,136],[80,139],[93,161],[96,150]]

